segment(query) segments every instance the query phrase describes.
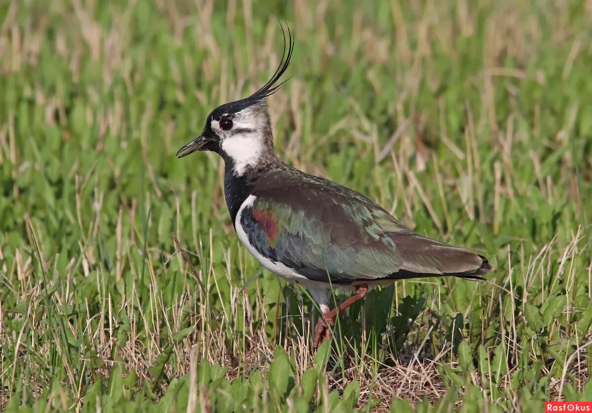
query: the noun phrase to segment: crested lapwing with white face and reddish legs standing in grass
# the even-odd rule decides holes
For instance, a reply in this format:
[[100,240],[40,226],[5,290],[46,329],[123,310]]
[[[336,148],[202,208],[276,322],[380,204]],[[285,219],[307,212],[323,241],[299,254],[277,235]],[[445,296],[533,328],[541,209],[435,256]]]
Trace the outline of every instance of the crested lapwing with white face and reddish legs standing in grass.
[[[483,281],[494,267],[474,249],[415,233],[367,196],[278,158],[267,100],[287,82],[279,81],[295,45],[289,27],[286,36],[280,25],[284,49],[268,82],[215,108],[176,156],[212,151],[223,159],[224,197],[240,242],[264,268],[303,285],[318,303],[314,349],[332,338],[339,313],[378,285],[423,277]],[[353,294],[330,310],[334,288]]]

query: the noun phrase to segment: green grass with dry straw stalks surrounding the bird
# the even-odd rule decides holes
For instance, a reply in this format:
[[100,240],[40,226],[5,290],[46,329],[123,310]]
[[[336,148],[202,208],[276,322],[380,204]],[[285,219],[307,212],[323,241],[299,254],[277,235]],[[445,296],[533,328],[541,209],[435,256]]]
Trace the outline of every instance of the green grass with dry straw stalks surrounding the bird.
[[[276,66],[272,11],[296,37],[280,157],[484,249],[489,282],[375,290],[314,355],[318,311],[239,246],[221,160],[175,158]],[[591,22],[589,1],[0,3],[0,408],[591,400]]]

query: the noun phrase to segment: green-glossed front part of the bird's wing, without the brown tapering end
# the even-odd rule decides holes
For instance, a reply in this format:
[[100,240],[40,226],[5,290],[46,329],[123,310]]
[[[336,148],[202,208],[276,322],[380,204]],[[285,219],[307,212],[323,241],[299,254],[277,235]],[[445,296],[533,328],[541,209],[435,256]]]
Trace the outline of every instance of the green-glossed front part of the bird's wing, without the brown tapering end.
[[321,178],[256,188],[241,225],[251,245],[317,281],[349,283],[397,272],[392,232],[410,232],[368,198]]

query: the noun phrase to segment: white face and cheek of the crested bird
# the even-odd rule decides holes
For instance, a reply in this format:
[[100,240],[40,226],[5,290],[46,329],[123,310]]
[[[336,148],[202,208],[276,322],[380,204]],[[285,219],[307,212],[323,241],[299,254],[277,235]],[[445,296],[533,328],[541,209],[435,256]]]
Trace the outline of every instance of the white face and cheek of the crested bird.
[[234,173],[242,175],[249,165],[256,165],[265,152],[263,128],[268,122],[262,110],[246,108],[222,119],[232,120],[232,127],[224,131],[220,122],[212,119],[211,128],[220,137],[220,147],[234,160]]

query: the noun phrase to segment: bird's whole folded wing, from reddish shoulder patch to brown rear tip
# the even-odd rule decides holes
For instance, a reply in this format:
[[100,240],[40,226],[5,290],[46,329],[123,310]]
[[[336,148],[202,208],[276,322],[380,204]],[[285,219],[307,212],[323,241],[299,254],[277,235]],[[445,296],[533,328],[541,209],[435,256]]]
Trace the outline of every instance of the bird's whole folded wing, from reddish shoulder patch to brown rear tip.
[[470,249],[414,233],[362,194],[294,169],[260,178],[253,194],[241,217],[249,242],[310,279],[471,278],[493,268]]

